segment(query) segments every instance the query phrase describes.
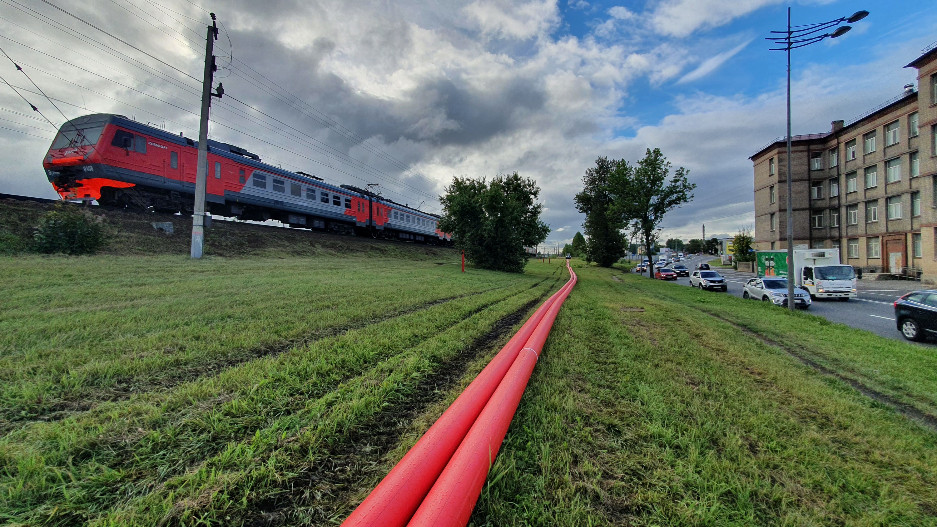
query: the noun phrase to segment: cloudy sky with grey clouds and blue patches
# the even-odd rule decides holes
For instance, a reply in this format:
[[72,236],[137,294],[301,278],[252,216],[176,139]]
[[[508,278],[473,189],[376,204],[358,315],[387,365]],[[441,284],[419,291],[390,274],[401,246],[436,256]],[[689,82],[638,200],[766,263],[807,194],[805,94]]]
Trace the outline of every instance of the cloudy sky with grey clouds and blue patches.
[[[748,157],[784,132],[776,0],[0,0],[0,193],[55,198],[41,159],[65,117],[114,112],[198,138],[208,11],[224,32],[211,137],[333,183],[381,183],[438,212],[454,175],[520,172],[550,240],[572,238],[597,156],[659,147],[696,198],[665,237],[751,227]],[[857,8],[836,40],[795,52],[794,131],[823,132],[899,95],[937,39],[931,0],[800,0],[794,23]],[[90,25],[89,25],[90,24]],[[94,27],[93,27],[94,26]],[[231,58],[233,57],[233,58]],[[55,105],[39,94],[41,89]],[[57,109],[56,109],[57,107]],[[61,110],[61,111],[59,111]]]

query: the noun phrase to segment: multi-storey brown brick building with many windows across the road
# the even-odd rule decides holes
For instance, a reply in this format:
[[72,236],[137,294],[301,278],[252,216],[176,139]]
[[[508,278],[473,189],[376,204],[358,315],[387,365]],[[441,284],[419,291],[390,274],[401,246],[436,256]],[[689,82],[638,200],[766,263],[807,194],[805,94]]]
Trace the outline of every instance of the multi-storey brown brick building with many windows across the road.
[[[906,67],[917,86],[822,134],[794,136],[794,243],[843,263],[937,283],[937,47]],[[784,138],[751,156],[755,247],[787,248]]]

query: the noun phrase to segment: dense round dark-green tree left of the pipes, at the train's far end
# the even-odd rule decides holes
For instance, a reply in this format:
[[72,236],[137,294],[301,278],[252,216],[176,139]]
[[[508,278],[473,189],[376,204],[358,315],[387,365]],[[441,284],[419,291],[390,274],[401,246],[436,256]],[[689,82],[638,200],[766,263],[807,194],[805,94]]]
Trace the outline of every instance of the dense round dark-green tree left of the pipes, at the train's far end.
[[530,255],[525,247],[546,240],[550,227],[540,219],[540,187],[517,172],[487,183],[457,177],[439,197],[439,228],[453,233],[468,261],[484,269],[523,272]]

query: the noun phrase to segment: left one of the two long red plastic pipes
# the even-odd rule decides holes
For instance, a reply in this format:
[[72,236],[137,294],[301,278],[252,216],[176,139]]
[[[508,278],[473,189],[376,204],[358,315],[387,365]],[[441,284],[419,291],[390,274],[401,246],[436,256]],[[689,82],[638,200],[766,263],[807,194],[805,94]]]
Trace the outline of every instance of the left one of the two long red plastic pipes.
[[[571,271],[572,272],[572,271]],[[568,282],[528,318],[498,355],[479,373],[437,419],[423,437],[410,448],[361,505],[342,522],[343,527],[404,527],[420,506],[426,492],[462,443],[468,429],[482,412],[505,373],[539,327],[543,316],[563,292]],[[563,297],[565,298],[565,297]]]

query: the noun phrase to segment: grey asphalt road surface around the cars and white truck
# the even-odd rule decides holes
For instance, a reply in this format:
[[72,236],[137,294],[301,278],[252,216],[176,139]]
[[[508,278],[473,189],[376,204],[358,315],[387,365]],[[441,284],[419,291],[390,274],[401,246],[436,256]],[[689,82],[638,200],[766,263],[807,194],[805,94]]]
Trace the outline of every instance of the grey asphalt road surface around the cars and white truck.
[[[695,270],[696,264],[706,263],[711,259],[713,259],[713,256],[693,256],[678,263],[687,266],[692,272]],[[738,298],[742,297],[742,286],[754,276],[751,272],[733,271],[732,268],[713,267],[712,269],[725,277],[728,283],[727,293]],[[689,286],[690,279],[681,276],[677,279],[677,284]],[[927,287],[917,282],[859,280],[856,282],[858,298],[851,299],[848,302],[813,300],[809,311],[813,315],[825,316],[831,322],[840,322],[858,329],[868,329],[889,339],[903,340],[901,333],[895,328],[893,302],[908,291],[923,288]],[[724,294],[721,291],[707,292],[713,295]],[[778,309],[782,308],[779,307]],[[935,343],[929,341],[928,344],[933,345]]]

